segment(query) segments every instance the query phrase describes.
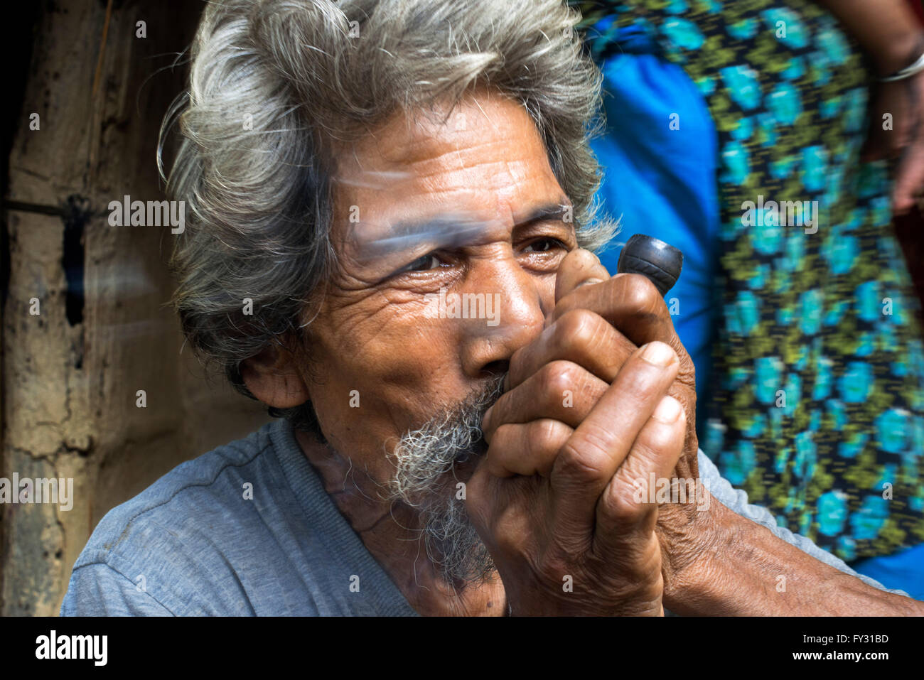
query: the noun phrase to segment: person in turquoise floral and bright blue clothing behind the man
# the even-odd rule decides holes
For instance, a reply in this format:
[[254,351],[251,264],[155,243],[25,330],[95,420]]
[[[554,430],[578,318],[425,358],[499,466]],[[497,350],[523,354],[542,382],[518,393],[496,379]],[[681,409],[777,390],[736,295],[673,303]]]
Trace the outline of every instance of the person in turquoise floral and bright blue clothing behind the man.
[[685,253],[667,302],[703,450],[924,597],[924,348],[891,226],[924,186],[920,23],[906,0],[572,4],[604,76],[598,198],[620,242]]

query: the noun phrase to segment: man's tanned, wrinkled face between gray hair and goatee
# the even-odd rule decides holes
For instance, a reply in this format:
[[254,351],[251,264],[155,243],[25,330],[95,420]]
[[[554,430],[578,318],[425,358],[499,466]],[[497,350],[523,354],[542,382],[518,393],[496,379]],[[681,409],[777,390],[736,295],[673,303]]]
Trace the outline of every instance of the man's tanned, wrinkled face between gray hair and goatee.
[[337,164],[339,271],[310,322],[306,383],[328,442],[386,483],[403,434],[539,334],[577,242],[535,125],[493,93],[439,122],[395,115]]

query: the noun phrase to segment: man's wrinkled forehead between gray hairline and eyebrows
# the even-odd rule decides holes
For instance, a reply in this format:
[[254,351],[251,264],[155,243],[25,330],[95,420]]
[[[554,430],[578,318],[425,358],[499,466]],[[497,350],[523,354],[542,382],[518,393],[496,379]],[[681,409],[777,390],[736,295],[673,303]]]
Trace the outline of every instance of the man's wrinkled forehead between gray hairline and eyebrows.
[[492,92],[393,115],[336,156],[334,230],[365,255],[420,240],[459,246],[564,202],[529,113]]

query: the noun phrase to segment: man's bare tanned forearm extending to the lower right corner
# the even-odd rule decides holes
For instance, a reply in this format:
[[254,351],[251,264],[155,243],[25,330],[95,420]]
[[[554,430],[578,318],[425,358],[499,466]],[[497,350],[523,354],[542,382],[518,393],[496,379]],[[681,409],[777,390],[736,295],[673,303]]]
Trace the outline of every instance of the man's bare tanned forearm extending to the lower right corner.
[[672,612],[924,615],[924,603],[825,565],[717,501],[697,515],[696,559],[665,582],[664,606]]

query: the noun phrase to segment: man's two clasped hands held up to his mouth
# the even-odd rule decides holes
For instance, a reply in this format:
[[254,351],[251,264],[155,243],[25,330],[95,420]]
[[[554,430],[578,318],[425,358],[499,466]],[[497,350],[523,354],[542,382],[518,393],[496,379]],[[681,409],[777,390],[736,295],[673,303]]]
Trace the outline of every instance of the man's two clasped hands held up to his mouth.
[[[695,479],[692,362],[654,286],[641,276],[610,279],[586,250],[576,250],[563,261],[555,299],[545,331],[511,358],[505,395],[485,416],[483,430],[490,447],[469,482],[469,513],[480,519],[476,526],[511,601],[517,600],[517,583],[531,574],[547,587],[529,586],[533,595],[541,594],[537,604],[562,605],[576,613],[586,604],[596,613],[659,613],[663,577],[646,581],[632,570],[648,570],[655,562],[664,574],[674,568],[653,551],[659,545],[658,534],[651,534],[658,510],[634,498],[637,480],[647,482],[652,472],[662,479],[676,476],[675,469],[680,469]],[[622,334],[614,325],[630,326],[632,331]],[[658,373],[641,358],[638,346],[650,352],[660,348],[671,360]],[[657,416],[650,419],[665,393],[680,397],[679,403],[675,398],[663,402],[664,409],[680,411],[669,425]],[[679,460],[681,455],[684,460]],[[488,498],[493,503],[487,503]],[[533,521],[519,516],[513,509],[519,506]],[[542,511],[537,517],[538,509]],[[582,519],[569,517],[576,513]],[[594,513],[602,513],[596,522]],[[614,535],[608,536],[611,529]],[[536,537],[541,538],[526,544]],[[606,553],[612,553],[609,560],[603,559]],[[551,561],[538,564],[537,555]],[[632,556],[638,562],[630,567],[626,558]],[[607,561],[609,569],[602,564]],[[620,573],[620,566],[628,568]],[[602,574],[594,574],[596,569]],[[563,590],[566,576],[576,584],[574,593]],[[620,583],[626,576],[632,578]],[[591,595],[590,602],[577,597],[578,578],[593,588],[580,593]],[[598,585],[591,586],[593,582]],[[604,583],[617,598],[601,597]],[[659,592],[656,606],[642,583]],[[548,588],[555,597],[549,599]],[[629,605],[634,593],[644,600],[640,610],[638,604]]]

